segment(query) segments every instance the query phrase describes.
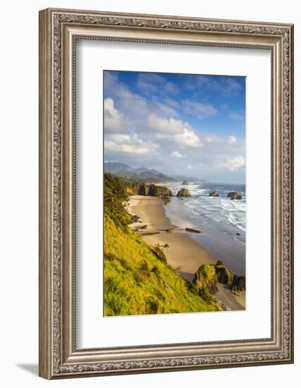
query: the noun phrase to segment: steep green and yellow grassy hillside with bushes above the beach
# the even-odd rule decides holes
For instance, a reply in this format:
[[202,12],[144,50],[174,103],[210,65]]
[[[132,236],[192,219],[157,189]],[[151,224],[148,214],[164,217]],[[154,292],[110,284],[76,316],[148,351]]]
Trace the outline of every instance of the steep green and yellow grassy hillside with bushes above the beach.
[[128,227],[128,188],[104,175],[104,315],[190,313],[221,310],[166,262],[159,246]]

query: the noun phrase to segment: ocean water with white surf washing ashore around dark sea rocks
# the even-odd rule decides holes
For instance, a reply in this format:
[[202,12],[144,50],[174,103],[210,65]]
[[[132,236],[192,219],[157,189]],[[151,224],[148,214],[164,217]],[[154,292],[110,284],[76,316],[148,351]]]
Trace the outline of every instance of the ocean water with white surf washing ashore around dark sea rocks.
[[[166,215],[180,228],[192,227],[203,231],[191,234],[207,248],[216,260],[234,274],[245,275],[246,199],[245,185],[221,183],[165,183],[174,197],[165,205]],[[190,198],[176,198],[180,188],[188,188]],[[218,191],[219,198],[209,197]],[[239,191],[242,200],[227,198],[230,191]]]

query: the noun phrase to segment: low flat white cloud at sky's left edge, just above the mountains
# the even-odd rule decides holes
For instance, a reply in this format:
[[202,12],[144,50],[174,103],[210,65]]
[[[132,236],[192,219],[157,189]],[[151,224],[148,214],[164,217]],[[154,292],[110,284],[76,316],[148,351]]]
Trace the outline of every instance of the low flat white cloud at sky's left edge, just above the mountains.
[[104,150],[130,154],[149,154],[159,149],[159,145],[142,140],[137,135],[111,135],[104,140]]

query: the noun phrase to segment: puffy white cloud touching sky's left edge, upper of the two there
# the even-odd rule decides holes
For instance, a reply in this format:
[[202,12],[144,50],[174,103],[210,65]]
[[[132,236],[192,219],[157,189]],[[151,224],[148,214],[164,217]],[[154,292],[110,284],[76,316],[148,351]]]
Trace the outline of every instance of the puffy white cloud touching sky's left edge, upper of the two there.
[[104,100],[104,131],[105,133],[127,133],[129,126],[128,118],[114,108],[111,98]]

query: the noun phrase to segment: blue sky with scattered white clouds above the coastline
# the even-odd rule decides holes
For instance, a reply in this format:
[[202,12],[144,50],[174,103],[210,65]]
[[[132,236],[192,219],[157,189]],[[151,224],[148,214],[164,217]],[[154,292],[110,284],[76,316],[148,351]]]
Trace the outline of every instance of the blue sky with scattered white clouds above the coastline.
[[245,183],[245,78],[104,71],[104,159]]

